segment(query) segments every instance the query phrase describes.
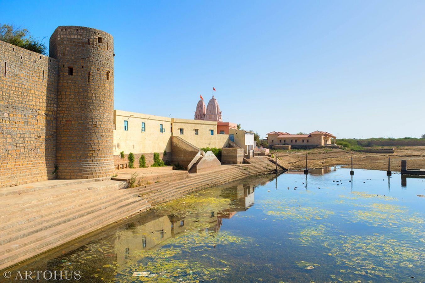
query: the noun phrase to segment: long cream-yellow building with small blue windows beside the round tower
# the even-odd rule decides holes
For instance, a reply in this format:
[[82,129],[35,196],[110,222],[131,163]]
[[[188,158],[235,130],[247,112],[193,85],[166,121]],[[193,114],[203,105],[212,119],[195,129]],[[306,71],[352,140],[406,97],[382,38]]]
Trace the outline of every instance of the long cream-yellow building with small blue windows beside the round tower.
[[[171,137],[180,137],[198,148],[227,147],[228,134],[217,133],[217,122],[162,117],[150,114],[114,110],[113,157],[115,166],[127,166],[130,152],[134,166],[143,154],[146,164],[153,163],[153,153],[171,161]],[[124,158],[120,153],[124,152]]]

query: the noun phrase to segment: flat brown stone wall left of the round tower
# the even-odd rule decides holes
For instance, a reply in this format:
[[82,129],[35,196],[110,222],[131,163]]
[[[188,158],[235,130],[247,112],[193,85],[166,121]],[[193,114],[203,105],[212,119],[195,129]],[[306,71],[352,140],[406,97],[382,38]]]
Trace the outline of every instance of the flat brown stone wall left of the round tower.
[[56,60],[0,41],[0,187],[55,177],[56,93]]

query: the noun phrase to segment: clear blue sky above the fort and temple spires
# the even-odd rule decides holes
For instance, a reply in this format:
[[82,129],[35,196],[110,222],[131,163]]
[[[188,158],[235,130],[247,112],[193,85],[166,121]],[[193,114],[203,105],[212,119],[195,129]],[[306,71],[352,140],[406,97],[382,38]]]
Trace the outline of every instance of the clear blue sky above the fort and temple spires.
[[[6,1],[0,22],[113,35],[115,109],[339,137],[425,133],[425,1]],[[412,123],[414,122],[414,123]]]

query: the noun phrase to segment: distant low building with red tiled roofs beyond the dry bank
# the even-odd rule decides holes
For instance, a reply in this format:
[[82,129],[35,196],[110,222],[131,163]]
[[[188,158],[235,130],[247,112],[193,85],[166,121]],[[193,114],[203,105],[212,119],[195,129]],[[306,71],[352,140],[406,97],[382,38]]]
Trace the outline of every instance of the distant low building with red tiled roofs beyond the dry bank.
[[308,148],[336,144],[333,134],[326,131],[313,131],[310,134],[289,134],[287,132],[272,131],[267,134],[267,143],[270,146],[290,145],[292,148]]

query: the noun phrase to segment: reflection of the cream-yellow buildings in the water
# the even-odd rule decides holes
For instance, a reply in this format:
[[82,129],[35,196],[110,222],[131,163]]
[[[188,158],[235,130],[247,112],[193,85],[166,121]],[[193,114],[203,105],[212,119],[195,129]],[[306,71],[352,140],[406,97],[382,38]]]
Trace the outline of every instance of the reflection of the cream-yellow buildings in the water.
[[254,204],[254,186],[228,187],[221,191],[219,197],[229,199],[231,208],[218,212],[193,213],[186,217],[161,216],[150,211],[144,214],[141,220],[128,224],[128,229],[117,232],[115,237],[114,249],[120,268],[125,268],[125,263],[131,254],[161,246],[167,243],[167,239],[176,237],[186,230],[197,229],[196,223],[199,221],[206,223],[207,232],[218,232],[222,225],[222,219],[230,219],[237,212],[246,211]]

